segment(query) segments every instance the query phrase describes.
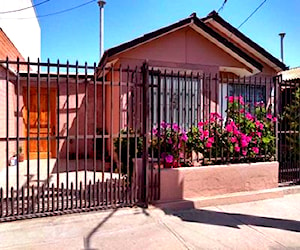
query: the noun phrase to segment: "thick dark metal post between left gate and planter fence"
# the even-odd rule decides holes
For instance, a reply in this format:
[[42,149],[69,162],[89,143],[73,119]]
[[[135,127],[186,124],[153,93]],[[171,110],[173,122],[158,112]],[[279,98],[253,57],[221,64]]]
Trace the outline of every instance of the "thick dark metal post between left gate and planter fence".
[[141,180],[141,201],[145,207],[148,207],[148,194],[149,194],[149,181],[148,181],[148,124],[149,124],[149,68],[147,62],[144,62],[142,66],[142,88],[143,88],[143,171]]

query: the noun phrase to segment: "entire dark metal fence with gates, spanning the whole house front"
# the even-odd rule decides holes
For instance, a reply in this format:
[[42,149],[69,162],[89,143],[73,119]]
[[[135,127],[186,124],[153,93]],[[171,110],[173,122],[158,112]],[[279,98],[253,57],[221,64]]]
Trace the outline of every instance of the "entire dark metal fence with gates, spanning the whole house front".
[[147,206],[168,167],[279,153],[279,181],[299,180],[274,79],[0,61],[0,219]]

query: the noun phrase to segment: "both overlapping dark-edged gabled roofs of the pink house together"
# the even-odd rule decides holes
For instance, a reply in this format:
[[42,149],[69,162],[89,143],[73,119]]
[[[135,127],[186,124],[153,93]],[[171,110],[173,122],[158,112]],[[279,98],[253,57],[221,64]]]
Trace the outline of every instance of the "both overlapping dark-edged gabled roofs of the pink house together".
[[[211,25],[207,25],[206,22],[209,21],[209,19],[213,19],[214,21],[218,22],[222,27],[224,27],[227,32],[231,32],[236,37],[238,37],[243,43],[247,44],[248,48],[251,48],[252,51],[255,51],[255,53],[259,54],[259,58],[263,59],[261,61],[264,61],[271,67],[276,67],[276,69],[286,69],[285,64],[280,62],[277,58],[272,56],[269,52],[267,52],[265,49],[260,47],[258,44],[253,42],[251,39],[246,37],[244,34],[242,34],[240,31],[238,31],[236,28],[234,28],[232,25],[230,25],[228,22],[226,22],[224,19],[222,19],[215,11],[211,12],[207,17],[199,19],[195,13],[191,14],[188,18],[185,18],[183,20],[180,20],[174,24],[171,24],[169,26],[163,27],[161,29],[158,29],[156,31],[147,33],[141,37],[138,37],[134,40],[131,40],[129,42],[120,44],[116,47],[110,48],[106,50],[100,60],[99,66],[102,67],[105,65],[109,57],[117,55],[119,53],[125,52],[127,50],[133,49],[141,44],[150,42],[151,40],[154,40],[156,38],[159,38],[163,35],[166,35],[170,32],[176,31],[180,28],[190,26],[193,29],[195,29],[197,32],[205,35],[210,40],[212,40],[214,43],[218,44],[220,47],[222,47],[227,52],[230,52],[232,55],[234,55],[236,58],[244,62],[246,65],[251,65],[251,68],[255,68],[255,71],[262,71],[263,65],[254,58],[250,51],[242,48],[239,46],[239,43],[235,43],[232,39],[229,39],[228,37],[224,36],[221,32],[218,32],[217,29],[214,27],[211,27]],[[279,70],[278,70],[279,71]]]

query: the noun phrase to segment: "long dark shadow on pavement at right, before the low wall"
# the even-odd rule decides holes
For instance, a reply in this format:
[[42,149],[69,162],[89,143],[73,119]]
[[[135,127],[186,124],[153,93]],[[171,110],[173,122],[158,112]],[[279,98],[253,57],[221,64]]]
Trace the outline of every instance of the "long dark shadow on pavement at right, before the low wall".
[[166,214],[179,217],[183,221],[196,222],[240,229],[242,225],[276,228],[300,233],[300,221],[255,216],[239,213],[218,212],[205,209],[185,211],[165,210]]

